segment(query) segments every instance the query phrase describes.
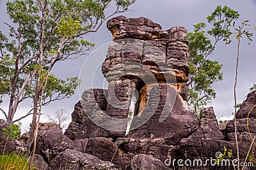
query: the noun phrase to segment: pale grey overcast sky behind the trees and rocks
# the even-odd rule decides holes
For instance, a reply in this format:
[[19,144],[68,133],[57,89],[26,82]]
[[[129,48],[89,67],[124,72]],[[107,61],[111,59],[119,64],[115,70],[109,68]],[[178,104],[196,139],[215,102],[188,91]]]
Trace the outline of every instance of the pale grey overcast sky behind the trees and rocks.
[[[3,22],[10,22],[8,21],[8,15],[6,14],[5,3],[6,0],[0,1],[0,29],[4,33],[6,33],[7,27]],[[237,10],[241,15],[240,20],[250,20],[252,26],[256,26],[256,0],[138,0],[131,6],[132,12],[122,13],[122,15],[125,15],[126,17],[147,17],[160,24],[163,29],[170,29],[173,26],[184,26],[188,31],[193,31],[193,24],[206,22],[206,17],[214,11],[217,5],[227,5],[230,8]],[[95,49],[97,49],[97,47],[110,42],[112,40],[112,35],[108,29],[106,29],[105,23],[97,33],[93,33],[92,35],[84,38],[94,42],[96,44]],[[253,38],[255,40],[256,36]],[[245,40],[242,40],[237,85],[238,102],[242,102],[244,100],[249,92],[249,88],[252,87],[253,83],[256,83],[255,45],[255,42],[248,45]],[[223,65],[223,81],[216,82],[214,84],[213,87],[216,90],[217,97],[212,100],[211,104],[209,104],[209,106],[214,107],[214,111],[220,119],[230,118],[232,116],[232,112],[234,112],[236,47],[237,42],[235,41],[232,42],[231,45],[219,43],[214,55],[211,56],[211,59],[216,59]],[[104,54],[104,50],[106,49],[107,48],[102,49],[102,54]],[[55,66],[53,73],[63,79],[65,77],[79,76],[79,72],[86,58],[87,56],[83,56],[74,61],[63,61],[58,63],[58,65]],[[92,73],[88,72],[88,75],[92,75]],[[96,82],[94,87],[102,88],[102,82],[104,81],[103,76],[98,73],[95,77],[99,79],[99,83]],[[81,89],[81,91],[83,90],[85,89]],[[72,98],[61,100],[61,102],[54,102],[51,105],[44,107],[43,112],[52,113],[56,109],[66,108],[68,110],[67,115],[70,116],[74,109],[74,105],[78,101],[79,95],[78,91],[76,91],[76,94]],[[8,101],[5,101],[1,107],[6,109],[7,103]],[[20,105],[19,113],[27,111],[28,107],[31,107],[31,105]],[[3,115],[0,114],[0,118],[3,118]],[[28,128],[29,119],[31,118],[27,118],[23,121],[23,129]]]

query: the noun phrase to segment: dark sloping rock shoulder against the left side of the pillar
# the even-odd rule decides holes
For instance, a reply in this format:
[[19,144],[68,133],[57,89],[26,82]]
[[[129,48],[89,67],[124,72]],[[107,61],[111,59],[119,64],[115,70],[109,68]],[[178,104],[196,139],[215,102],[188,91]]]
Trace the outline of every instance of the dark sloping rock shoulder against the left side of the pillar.
[[[106,111],[108,91],[103,89],[88,89],[82,95],[83,100],[77,102],[72,112],[72,122],[65,135],[72,140],[90,137],[111,137],[111,132],[95,125],[88,117],[97,118],[100,112]],[[88,115],[87,115],[88,114]]]

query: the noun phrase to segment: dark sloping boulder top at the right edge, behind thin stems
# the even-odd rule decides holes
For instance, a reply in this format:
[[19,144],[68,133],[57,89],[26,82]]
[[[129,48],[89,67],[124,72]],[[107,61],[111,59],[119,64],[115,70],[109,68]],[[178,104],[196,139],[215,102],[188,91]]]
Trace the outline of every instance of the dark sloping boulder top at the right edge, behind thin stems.
[[237,119],[242,119],[247,117],[256,118],[256,91],[252,91],[247,95],[246,100],[241,105],[239,111],[237,111],[237,114],[236,114]]

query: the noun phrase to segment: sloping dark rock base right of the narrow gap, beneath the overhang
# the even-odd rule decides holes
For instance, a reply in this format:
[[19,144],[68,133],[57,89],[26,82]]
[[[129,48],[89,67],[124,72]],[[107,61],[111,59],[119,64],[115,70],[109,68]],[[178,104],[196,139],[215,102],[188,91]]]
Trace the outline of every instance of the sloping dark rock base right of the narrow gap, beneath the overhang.
[[[159,91],[150,91],[148,94],[150,97],[154,97],[154,93],[160,93],[156,111],[150,105],[145,111],[141,112],[141,115],[147,114],[148,112],[154,112],[154,115],[141,127],[132,130],[129,137],[139,139],[163,138],[166,143],[175,144],[181,139],[188,137],[198,128],[198,121],[195,118],[195,114],[186,108],[186,103],[179,94],[175,97],[174,105],[170,105],[172,102],[166,101],[167,86],[166,84],[159,84]],[[170,86],[169,88],[172,87]],[[165,108],[168,117],[163,122],[160,122],[163,108]],[[133,124],[131,128],[132,126]]]

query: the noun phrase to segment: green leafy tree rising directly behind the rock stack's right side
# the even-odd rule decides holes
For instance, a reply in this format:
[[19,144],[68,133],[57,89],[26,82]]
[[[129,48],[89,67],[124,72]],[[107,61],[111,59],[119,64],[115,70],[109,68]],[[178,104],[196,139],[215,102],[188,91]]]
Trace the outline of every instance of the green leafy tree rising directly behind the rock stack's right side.
[[222,40],[230,43],[231,27],[234,20],[239,18],[239,13],[228,6],[217,6],[214,12],[207,17],[211,29],[205,30],[207,24],[200,22],[194,25],[194,32],[188,33],[189,42],[189,71],[188,104],[192,111],[198,114],[205,105],[216,97],[212,84],[223,79],[221,65],[212,61],[216,45]]

